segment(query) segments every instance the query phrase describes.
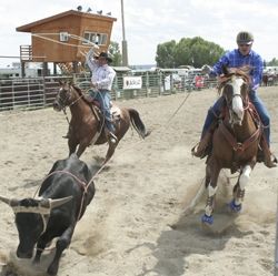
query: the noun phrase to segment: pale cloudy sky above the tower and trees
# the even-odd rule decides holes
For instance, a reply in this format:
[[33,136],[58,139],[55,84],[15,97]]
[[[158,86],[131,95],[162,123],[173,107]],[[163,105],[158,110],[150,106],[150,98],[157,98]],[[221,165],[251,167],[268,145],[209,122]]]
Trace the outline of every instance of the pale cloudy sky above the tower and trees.
[[[118,19],[111,39],[121,44],[120,0],[4,0],[0,6],[0,55],[19,55],[21,44],[31,44],[31,35],[17,32],[17,27],[79,4],[85,11],[90,7],[92,12],[111,12]],[[262,59],[278,59],[276,0],[123,0],[123,8],[129,64],[155,64],[159,43],[197,35],[231,50],[240,30],[254,33],[254,50]],[[0,68],[10,62],[0,59]]]

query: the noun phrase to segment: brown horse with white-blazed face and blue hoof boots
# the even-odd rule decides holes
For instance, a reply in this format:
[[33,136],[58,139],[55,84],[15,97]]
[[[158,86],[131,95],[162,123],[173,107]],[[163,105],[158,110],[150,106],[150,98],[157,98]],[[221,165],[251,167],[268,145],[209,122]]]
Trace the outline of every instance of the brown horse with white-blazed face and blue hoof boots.
[[246,72],[225,69],[224,82],[219,86],[225,98],[224,120],[212,137],[212,150],[207,159],[205,185],[208,192],[202,223],[212,224],[212,211],[217,181],[222,168],[231,173],[239,171],[234,186],[232,212],[241,209],[245,187],[257,162],[258,145],[262,129],[254,105],[249,102],[249,76]]

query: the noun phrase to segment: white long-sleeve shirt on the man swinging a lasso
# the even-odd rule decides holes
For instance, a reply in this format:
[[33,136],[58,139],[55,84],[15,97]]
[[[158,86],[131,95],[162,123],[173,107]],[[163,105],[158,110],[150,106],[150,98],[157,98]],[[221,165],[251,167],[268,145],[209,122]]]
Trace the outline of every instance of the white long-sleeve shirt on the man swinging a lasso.
[[93,59],[93,48],[86,55],[86,62],[92,72],[91,82],[99,90],[109,90],[112,89],[113,78],[116,72],[108,64],[99,65],[98,62]]

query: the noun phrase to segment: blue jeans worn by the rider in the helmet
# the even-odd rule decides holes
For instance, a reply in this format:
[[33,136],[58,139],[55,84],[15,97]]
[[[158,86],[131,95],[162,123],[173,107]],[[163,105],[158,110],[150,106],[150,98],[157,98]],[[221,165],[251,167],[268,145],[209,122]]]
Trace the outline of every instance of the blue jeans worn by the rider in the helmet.
[[[264,124],[264,134],[267,141],[268,146],[270,145],[270,116],[268,114],[268,111],[260,100],[260,98],[257,95],[256,91],[250,91],[249,92],[249,100],[254,104],[255,109],[259,113],[260,120]],[[205,133],[208,131],[209,126],[212,124],[216,116],[220,115],[221,108],[224,104],[224,98],[220,96],[215,104],[209,109],[202,132],[201,132],[201,137],[203,137]]]

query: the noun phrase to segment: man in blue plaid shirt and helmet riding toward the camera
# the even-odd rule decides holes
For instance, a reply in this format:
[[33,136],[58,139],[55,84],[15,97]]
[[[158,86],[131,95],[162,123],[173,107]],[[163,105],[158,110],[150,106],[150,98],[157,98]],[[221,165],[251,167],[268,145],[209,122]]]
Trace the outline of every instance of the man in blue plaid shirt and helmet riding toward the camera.
[[[274,167],[277,164],[277,160],[271,160],[271,154],[269,151],[270,145],[270,117],[268,111],[257,94],[257,89],[260,85],[262,78],[264,63],[261,57],[251,50],[254,42],[254,35],[250,32],[239,32],[237,35],[238,49],[235,49],[230,52],[224,54],[219,61],[212,67],[203,67],[203,72],[209,75],[221,75],[222,67],[228,68],[241,68],[248,65],[251,68],[250,78],[251,78],[251,88],[249,92],[249,99],[257,112],[259,113],[260,120],[264,124],[264,134],[267,142],[267,147],[264,151],[265,154],[265,164],[268,167]],[[210,126],[215,122],[216,116],[219,116],[222,109],[224,98],[219,98],[216,103],[209,109],[202,133],[201,141],[197,149],[192,150],[192,154],[197,157],[206,156],[205,151],[210,142],[212,133],[209,131]]]

